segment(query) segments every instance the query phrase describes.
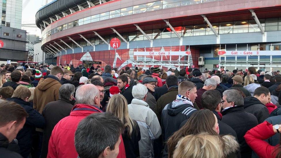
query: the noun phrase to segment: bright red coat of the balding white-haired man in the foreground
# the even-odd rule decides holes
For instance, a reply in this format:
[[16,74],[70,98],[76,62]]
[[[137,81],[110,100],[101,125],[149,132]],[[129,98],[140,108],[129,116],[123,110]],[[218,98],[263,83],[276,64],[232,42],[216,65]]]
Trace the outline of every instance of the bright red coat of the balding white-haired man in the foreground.
[[[49,141],[47,157],[77,158],[78,153],[74,146],[75,131],[79,122],[92,113],[102,113],[102,111],[95,105],[76,104],[73,106],[70,116],[61,119],[54,127]],[[117,157],[126,157],[122,137]]]

